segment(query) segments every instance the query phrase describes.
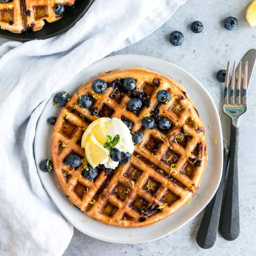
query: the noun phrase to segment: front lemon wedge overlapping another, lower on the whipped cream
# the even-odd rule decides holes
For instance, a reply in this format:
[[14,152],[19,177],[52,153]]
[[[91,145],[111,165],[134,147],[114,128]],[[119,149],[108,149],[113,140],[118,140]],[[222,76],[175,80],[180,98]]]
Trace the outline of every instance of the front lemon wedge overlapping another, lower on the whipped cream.
[[95,168],[108,158],[108,150],[103,148],[102,144],[96,140],[94,135],[90,134],[85,144],[85,156],[90,166]]

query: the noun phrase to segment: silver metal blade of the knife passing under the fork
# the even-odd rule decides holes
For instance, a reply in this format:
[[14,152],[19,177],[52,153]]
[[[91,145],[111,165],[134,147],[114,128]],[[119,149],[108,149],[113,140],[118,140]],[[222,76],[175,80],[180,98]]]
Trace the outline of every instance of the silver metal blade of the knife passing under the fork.
[[[251,76],[252,76],[253,69],[254,69],[255,63],[256,63],[256,49],[250,49],[246,54],[244,54],[241,61],[242,61],[242,77],[243,77],[243,73],[244,73],[245,61],[248,61],[248,63],[249,63],[248,80],[247,80],[248,81],[247,89],[249,89]],[[237,73],[238,73],[238,66],[236,67],[236,74]],[[221,109],[220,119],[221,119],[221,124],[222,124],[222,136],[223,136],[224,148],[226,148],[226,150],[229,150],[231,119],[229,116],[224,115],[223,109]]]

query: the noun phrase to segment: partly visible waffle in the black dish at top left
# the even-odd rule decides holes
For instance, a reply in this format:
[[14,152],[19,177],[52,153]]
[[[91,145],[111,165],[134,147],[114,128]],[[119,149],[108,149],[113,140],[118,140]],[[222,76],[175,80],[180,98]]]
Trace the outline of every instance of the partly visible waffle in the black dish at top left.
[[47,20],[54,22],[61,19],[56,15],[56,4],[72,6],[74,0],[13,0],[7,3],[0,1],[0,27],[13,33],[27,30],[40,30]]

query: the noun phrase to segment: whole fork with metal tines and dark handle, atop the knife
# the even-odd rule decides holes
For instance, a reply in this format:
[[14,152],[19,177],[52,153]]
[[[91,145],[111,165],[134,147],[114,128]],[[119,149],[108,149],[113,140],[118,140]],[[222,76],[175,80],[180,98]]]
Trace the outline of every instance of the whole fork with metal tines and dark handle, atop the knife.
[[[229,92],[229,62],[227,66],[223,111],[231,120],[230,131],[230,160],[229,171],[226,182],[226,191],[223,201],[222,218],[220,223],[220,233],[226,240],[232,241],[239,236],[239,195],[238,195],[238,135],[239,135],[239,118],[247,111],[247,76],[248,61],[246,61],[243,77],[243,86],[241,90],[241,66],[238,67],[238,77],[236,80],[236,64],[234,62],[231,86]],[[241,97],[242,91],[242,97]]]

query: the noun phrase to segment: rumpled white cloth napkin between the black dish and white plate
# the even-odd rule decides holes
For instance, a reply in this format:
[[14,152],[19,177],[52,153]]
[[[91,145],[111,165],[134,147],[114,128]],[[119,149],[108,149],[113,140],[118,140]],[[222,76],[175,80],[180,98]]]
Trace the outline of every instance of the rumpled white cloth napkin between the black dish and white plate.
[[34,162],[36,122],[49,96],[93,62],[152,33],[184,2],[95,0],[64,34],[0,47],[0,255],[58,256],[73,235]]

